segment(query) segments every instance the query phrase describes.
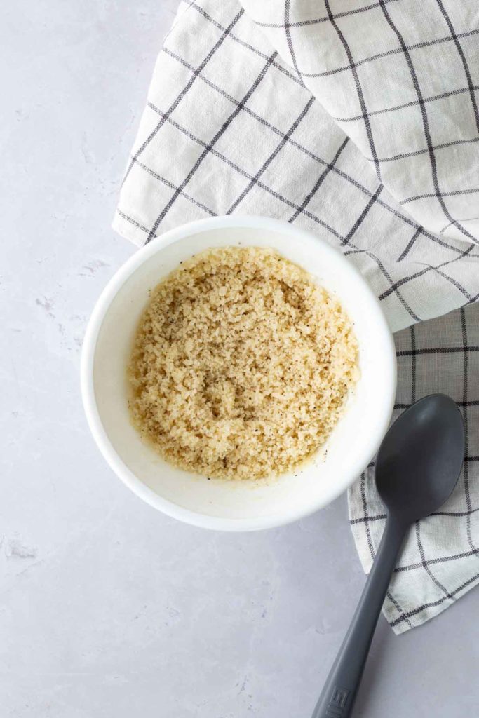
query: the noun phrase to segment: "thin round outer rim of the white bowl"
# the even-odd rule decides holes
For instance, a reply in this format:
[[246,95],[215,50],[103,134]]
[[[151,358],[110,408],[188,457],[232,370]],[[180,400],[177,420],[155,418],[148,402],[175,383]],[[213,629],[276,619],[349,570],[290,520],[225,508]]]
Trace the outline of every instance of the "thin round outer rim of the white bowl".
[[[378,426],[381,428],[381,431],[378,430],[376,436],[371,437],[370,442],[363,449],[361,461],[358,462],[358,466],[361,465],[361,468],[358,468],[358,471],[349,472],[348,475],[343,475],[343,479],[338,481],[338,485],[335,487],[334,491],[328,493],[326,497],[321,497],[319,500],[315,500],[305,509],[290,511],[284,510],[280,513],[271,514],[270,516],[260,516],[254,518],[224,518],[219,516],[209,516],[208,514],[196,512],[177,505],[147,487],[147,485],[136,477],[134,472],[132,472],[129,467],[124,464],[116,452],[116,449],[113,447],[113,444],[111,444],[98,411],[93,382],[93,366],[95,361],[96,344],[98,335],[100,334],[101,327],[103,325],[103,320],[106,317],[108,309],[113,302],[113,299],[116,297],[116,294],[119,292],[121,287],[124,286],[129,277],[134,274],[136,269],[144,264],[144,262],[148,261],[151,256],[161,251],[162,248],[167,247],[169,244],[182,238],[203,232],[205,230],[233,227],[276,230],[282,233],[288,232],[294,236],[302,237],[304,239],[314,238],[315,241],[322,244],[323,252],[330,253],[331,255],[334,255],[335,258],[338,258],[339,256],[344,261],[343,266],[345,272],[348,272],[351,279],[354,279],[356,283],[358,283],[359,280],[359,284],[363,286],[364,294],[368,296],[370,309],[374,315],[372,317],[373,323],[377,327],[376,331],[382,333],[383,335],[386,365],[389,365],[390,368],[389,381],[386,383],[389,393],[384,393],[381,404],[378,404],[377,409]],[[387,355],[389,355],[389,357]],[[344,493],[344,491],[353,484],[356,478],[358,478],[361,471],[363,471],[368,465],[368,462],[370,462],[376,454],[383,435],[389,427],[389,422],[394,409],[394,401],[396,398],[396,349],[391,330],[389,329],[389,325],[386,321],[385,315],[383,314],[383,309],[376,297],[376,294],[374,294],[361,272],[356,269],[356,267],[348,261],[347,258],[345,258],[343,253],[338,248],[330,245],[324,238],[317,236],[315,233],[298,228],[289,223],[285,223],[282,220],[255,215],[218,215],[211,218],[194,220],[185,225],[181,225],[180,227],[168,230],[164,234],[154,238],[151,242],[136,250],[136,252],[126,260],[126,262],[115,272],[115,274],[113,274],[93,307],[93,312],[85,330],[80,359],[80,385],[86,419],[98,449],[100,449],[101,454],[103,454],[103,458],[106,460],[116,476],[131,491],[138,495],[139,498],[143,499],[146,503],[157,510],[162,511],[162,513],[165,513],[167,516],[189,523],[192,526],[210,528],[217,531],[257,531],[264,528],[284,526],[287,523],[292,523],[300,518],[310,516],[312,513],[315,513],[315,511],[323,508],[328,503],[331,503],[335,500],[335,498],[338,498],[340,494]]]

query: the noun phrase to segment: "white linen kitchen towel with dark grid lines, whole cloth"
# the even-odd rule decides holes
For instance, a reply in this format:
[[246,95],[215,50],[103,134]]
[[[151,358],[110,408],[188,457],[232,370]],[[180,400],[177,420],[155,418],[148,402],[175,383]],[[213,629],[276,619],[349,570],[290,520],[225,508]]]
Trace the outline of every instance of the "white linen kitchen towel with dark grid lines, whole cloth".
[[[477,0],[183,3],[113,224],[139,245],[229,213],[317,232],[401,330],[396,412],[434,391],[458,402],[465,470],[410,533],[385,605],[398,633],[479,581],[478,88]],[[349,508],[368,570],[384,525],[371,473]]]

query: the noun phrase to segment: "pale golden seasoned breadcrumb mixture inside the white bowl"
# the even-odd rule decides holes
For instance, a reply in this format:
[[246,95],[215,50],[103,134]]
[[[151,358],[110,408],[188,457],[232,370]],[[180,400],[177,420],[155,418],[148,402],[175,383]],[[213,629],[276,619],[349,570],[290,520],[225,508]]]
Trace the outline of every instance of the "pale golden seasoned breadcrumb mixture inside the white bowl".
[[315,452],[358,377],[340,304],[270,249],[208,250],[152,291],[131,413],[164,459],[207,477],[277,475]]

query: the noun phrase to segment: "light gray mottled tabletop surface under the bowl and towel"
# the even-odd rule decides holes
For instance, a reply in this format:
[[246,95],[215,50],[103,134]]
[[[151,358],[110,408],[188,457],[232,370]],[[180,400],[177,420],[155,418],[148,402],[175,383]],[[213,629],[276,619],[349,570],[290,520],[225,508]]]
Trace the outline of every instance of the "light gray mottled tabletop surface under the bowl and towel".
[[[308,718],[363,585],[345,498],[221,535],[106,467],[78,387],[85,322],[134,248],[110,222],[176,0],[0,10],[0,715]],[[400,638],[358,716],[478,714],[478,592]]]

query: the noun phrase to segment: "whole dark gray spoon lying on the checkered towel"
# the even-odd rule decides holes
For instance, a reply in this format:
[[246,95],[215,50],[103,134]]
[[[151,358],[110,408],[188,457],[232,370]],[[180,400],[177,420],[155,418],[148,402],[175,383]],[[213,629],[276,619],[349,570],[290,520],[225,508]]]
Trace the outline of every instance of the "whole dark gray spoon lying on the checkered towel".
[[358,608],[312,718],[348,718],[401,545],[411,523],[449,498],[464,460],[464,425],[448,396],[413,404],[391,426],[376,458],[376,486],[386,527]]

